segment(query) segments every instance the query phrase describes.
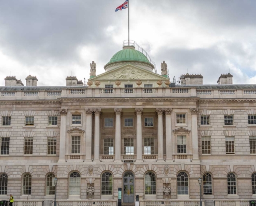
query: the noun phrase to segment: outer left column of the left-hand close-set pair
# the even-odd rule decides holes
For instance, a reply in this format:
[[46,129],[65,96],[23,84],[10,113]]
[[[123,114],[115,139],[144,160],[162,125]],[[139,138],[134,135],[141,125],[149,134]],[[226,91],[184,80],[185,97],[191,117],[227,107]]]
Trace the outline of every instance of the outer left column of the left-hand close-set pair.
[[92,162],[92,109],[85,109],[86,135],[85,135],[85,161]]

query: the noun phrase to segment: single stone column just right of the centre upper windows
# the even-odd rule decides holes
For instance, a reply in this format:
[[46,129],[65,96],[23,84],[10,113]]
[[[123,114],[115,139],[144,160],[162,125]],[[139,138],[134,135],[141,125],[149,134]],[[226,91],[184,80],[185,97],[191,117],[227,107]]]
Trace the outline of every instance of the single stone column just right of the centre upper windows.
[[141,123],[141,117],[142,117],[142,108],[135,109],[136,115],[137,115],[137,125],[136,125],[136,133],[137,133],[137,159],[136,162],[143,162],[142,160],[142,123]]

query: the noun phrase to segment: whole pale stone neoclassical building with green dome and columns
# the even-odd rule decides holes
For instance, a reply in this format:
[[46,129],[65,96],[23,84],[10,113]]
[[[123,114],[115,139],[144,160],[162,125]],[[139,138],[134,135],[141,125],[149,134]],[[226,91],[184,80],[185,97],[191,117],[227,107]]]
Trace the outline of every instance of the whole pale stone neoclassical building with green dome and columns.
[[59,205],[116,205],[122,188],[127,204],[197,205],[200,177],[203,200],[256,198],[256,85],[234,85],[230,73],[215,85],[195,74],[171,83],[165,62],[156,74],[132,45],[104,69],[96,75],[92,62],[87,85],[70,76],[66,87],[5,78],[0,199],[40,206],[57,191]]

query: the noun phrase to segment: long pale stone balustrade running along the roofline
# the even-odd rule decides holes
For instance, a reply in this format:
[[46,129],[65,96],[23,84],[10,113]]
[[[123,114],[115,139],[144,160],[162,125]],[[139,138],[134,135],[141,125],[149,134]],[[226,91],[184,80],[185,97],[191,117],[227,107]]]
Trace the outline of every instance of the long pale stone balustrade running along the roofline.
[[[10,88],[11,89],[11,88]],[[31,88],[33,89],[33,88]],[[201,98],[255,98],[255,89],[199,89],[176,88],[61,88],[59,90],[1,91],[1,100],[54,100],[58,98],[97,97],[201,97]]]

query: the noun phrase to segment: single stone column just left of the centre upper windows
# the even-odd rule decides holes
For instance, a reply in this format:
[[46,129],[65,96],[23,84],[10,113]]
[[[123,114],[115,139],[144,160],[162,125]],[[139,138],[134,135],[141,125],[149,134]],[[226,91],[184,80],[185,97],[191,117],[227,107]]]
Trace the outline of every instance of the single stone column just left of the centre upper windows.
[[121,162],[121,112],[122,109],[115,111],[115,162]]

